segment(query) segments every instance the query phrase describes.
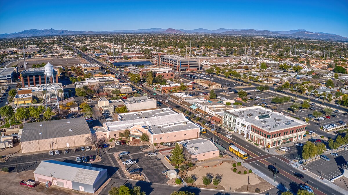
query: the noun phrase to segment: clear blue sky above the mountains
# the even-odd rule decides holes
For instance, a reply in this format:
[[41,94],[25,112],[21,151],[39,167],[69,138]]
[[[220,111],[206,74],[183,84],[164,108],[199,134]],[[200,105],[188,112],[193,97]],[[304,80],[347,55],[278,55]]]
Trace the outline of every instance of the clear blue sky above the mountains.
[[0,0],[0,34],[33,28],[306,29],[348,37],[348,1]]

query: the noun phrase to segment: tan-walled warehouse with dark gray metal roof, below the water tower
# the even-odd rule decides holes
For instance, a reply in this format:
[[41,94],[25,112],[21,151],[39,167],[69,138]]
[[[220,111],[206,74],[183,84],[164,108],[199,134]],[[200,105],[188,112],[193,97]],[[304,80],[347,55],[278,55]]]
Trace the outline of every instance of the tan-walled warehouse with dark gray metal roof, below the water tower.
[[90,136],[84,118],[30,122],[23,126],[21,149],[28,153],[82,146]]

